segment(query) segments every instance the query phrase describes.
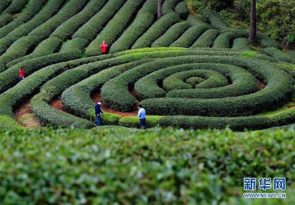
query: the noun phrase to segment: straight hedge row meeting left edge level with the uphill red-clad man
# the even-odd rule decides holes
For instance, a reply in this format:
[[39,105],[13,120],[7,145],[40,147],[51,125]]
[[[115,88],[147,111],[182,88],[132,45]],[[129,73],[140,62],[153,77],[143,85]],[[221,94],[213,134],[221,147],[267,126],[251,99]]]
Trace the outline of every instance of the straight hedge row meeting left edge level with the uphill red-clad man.
[[30,31],[39,27],[59,11],[63,0],[51,0],[38,14],[35,15],[29,22],[19,26],[5,37],[0,39],[0,55],[5,53],[9,46],[23,36],[29,34]]

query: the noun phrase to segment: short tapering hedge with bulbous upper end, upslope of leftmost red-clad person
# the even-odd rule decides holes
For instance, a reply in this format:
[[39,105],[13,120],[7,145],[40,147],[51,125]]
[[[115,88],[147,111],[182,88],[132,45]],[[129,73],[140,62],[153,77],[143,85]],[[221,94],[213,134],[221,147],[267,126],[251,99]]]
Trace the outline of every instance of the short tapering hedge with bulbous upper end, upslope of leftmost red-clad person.
[[28,59],[34,59],[42,56],[47,56],[50,54],[54,54],[57,51],[59,51],[60,45],[62,40],[60,38],[47,38],[46,40],[42,41],[35,49],[34,51],[24,57],[21,57],[19,59],[12,60],[6,64],[6,66],[9,68],[19,62],[28,60]]

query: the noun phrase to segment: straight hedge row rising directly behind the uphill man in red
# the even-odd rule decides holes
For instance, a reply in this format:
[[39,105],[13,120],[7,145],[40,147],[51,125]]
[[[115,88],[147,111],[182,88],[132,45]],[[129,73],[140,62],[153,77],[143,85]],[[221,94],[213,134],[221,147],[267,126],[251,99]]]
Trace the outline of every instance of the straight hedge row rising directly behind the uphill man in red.
[[107,26],[96,36],[86,49],[86,55],[97,56],[101,53],[100,44],[106,41],[109,47],[120,37],[124,29],[128,27],[130,21],[138,9],[142,6],[144,0],[127,0],[114,18]]

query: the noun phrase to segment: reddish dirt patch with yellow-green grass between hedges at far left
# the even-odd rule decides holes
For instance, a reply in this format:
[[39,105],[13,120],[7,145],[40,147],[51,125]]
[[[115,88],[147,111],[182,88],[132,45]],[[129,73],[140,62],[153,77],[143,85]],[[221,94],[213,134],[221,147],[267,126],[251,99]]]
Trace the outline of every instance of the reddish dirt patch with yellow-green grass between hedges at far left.
[[40,128],[41,125],[35,115],[31,112],[30,100],[25,102],[18,109],[13,111],[14,117],[18,123],[27,128]]

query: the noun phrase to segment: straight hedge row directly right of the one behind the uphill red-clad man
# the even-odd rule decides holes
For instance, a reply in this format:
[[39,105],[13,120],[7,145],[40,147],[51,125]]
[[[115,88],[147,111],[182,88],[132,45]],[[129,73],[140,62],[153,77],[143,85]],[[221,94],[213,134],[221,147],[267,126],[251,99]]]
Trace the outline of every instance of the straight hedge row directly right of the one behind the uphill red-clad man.
[[157,14],[157,0],[147,0],[139,10],[132,24],[112,45],[110,53],[131,49],[136,40],[154,23]]

